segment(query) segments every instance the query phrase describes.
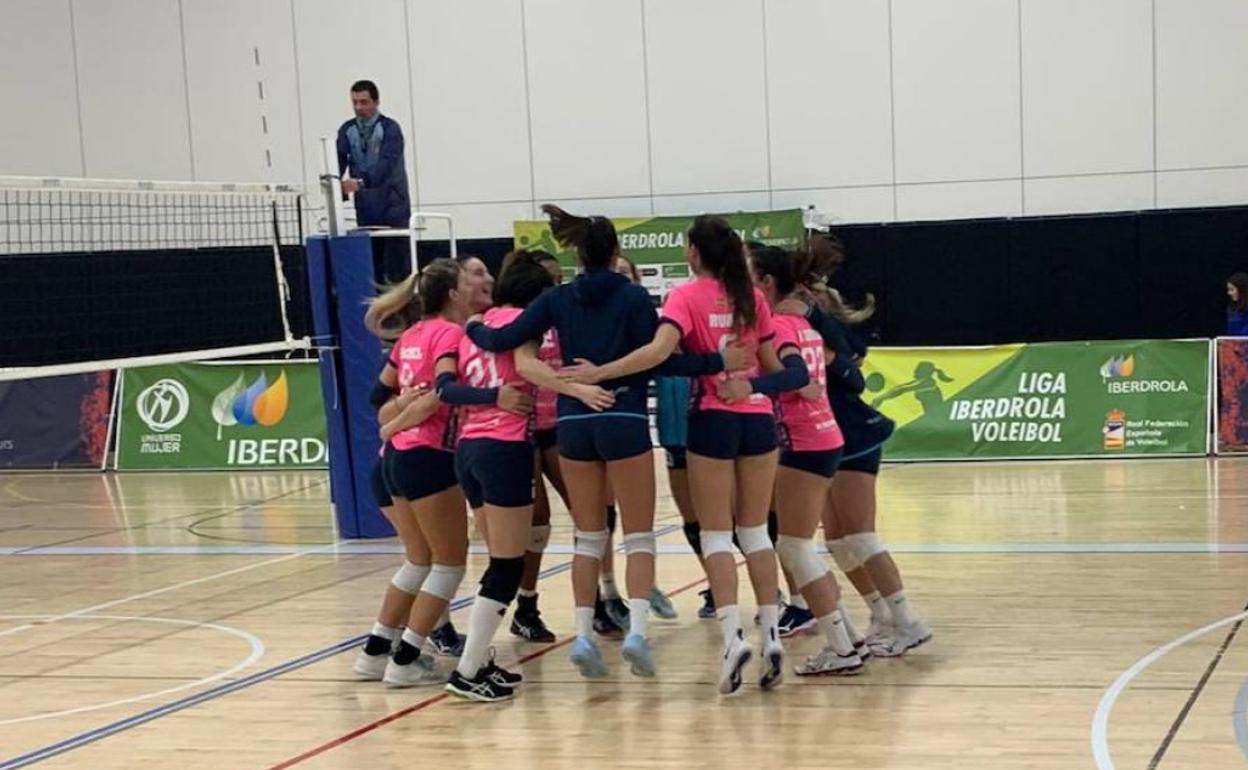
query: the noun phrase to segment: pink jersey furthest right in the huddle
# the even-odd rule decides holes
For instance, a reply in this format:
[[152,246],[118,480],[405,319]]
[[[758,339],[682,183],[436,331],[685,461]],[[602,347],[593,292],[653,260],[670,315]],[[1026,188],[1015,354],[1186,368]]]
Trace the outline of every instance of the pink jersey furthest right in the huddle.
[[810,372],[810,382],[819,383],[817,401],[809,401],[796,391],[781,393],[776,399],[776,418],[789,437],[789,448],[794,452],[826,452],[844,447],[845,437],[827,402],[824,338],[800,316],[773,316],[771,323],[776,329],[773,342],[776,353],[789,346],[797,348]]

